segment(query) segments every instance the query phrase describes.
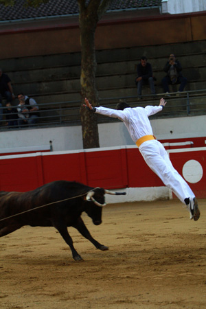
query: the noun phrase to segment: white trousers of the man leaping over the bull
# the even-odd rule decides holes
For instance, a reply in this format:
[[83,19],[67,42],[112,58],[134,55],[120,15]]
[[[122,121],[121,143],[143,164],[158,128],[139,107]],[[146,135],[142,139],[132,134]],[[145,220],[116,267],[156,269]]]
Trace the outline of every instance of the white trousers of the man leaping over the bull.
[[182,203],[185,204],[185,198],[194,198],[194,193],[189,185],[174,169],[168,152],[157,139],[145,141],[139,146],[139,151],[150,169],[159,176],[165,186],[169,187]]

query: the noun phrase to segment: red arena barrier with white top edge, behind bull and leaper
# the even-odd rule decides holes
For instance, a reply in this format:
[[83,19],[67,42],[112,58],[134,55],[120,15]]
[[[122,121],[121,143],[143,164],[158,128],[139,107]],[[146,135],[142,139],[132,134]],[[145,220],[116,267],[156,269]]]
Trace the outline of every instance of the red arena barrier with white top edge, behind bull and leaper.
[[[201,180],[189,184],[197,197],[206,198],[206,147],[168,151],[182,176],[187,161],[200,163]],[[60,179],[105,189],[163,186],[136,146],[4,156],[0,157],[0,176],[1,191],[25,192]]]

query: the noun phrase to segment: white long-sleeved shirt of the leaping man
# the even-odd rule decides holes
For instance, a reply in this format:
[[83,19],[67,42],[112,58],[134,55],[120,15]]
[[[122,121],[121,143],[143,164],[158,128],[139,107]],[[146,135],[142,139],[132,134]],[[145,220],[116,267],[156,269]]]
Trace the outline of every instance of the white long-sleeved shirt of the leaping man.
[[130,107],[124,108],[124,111],[121,111],[100,106],[96,107],[95,113],[122,120],[130,133],[130,137],[136,143],[137,139],[140,139],[144,135],[153,135],[152,126],[148,117],[162,111],[162,109],[163,106],[148,105],[145,108]]

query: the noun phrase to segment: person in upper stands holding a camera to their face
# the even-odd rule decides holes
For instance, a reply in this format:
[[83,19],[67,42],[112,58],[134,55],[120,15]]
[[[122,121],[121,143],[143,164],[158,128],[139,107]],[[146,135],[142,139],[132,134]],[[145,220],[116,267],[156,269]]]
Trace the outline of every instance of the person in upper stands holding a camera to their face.
[[174,54],[170,54],[170,58],[163,70],[167,73],[161,80],[166,95],[169,95],[170,92],[169,84],[180,84],[179,91],[176,93],[176,95],[180,95],[185,88],[185,84],[187,84],[187,78],[183,76],[181,63],[175,58]]

